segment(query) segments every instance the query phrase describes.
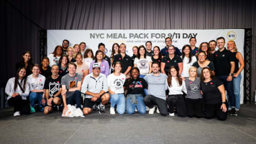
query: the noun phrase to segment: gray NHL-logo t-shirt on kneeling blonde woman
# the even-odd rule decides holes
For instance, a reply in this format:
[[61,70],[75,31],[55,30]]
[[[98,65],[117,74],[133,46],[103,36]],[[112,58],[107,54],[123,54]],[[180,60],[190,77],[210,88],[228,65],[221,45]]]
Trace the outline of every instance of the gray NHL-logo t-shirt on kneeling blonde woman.
[[202,98],[200,82],[201,82],[200,78],[196,78],[194,81],[191,81],[190,79],[186,78],[185,84],[186,84],[186,90],[188,92],[188,94],[186,94],[186,98],[190,98],[190,99]]

